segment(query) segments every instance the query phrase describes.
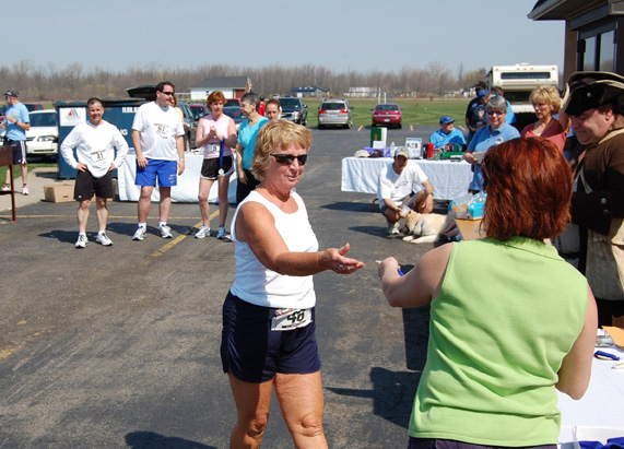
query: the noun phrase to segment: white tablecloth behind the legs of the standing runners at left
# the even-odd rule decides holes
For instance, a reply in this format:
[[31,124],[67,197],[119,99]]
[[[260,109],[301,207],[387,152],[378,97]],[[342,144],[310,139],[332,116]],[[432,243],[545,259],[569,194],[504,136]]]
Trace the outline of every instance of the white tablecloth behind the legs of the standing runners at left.
[[[202,154],[185,154],[185,172],[178,176],[178,185],[172,187],[172,200],[181,203],[197,203],[199,193],[199,175],[201,173],[201,164],[203,163]],[[137,177],[137,156],[129,154],[126,161],[117,172],[117,182],[119,186],[119,199],[121,201],[139,201],[141,197],[141,188],[134,185]],[[152,201],[157,202],[161,199],[161,192],[156,187],[152,192]],[[231,204],[236,203],[236,172],[229,177],[229,189],[227,190],[227,200]],[[208,202],[219,202],[219,188],[216,181],[210,189]]]

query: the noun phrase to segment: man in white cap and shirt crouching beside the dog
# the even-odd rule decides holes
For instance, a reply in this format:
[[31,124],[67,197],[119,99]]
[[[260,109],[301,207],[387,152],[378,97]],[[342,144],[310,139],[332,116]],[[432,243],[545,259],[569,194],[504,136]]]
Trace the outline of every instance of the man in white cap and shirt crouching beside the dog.
[[[399,146],[395,162],[381,169],[377,198],[381,213],[388,221],[388,235],[399,234],[399,221],[410,210],[428,214],[434,209],[434,187],[416,164],[408,164],[409,151]],[[423,190],[414,190],[422,186]]]

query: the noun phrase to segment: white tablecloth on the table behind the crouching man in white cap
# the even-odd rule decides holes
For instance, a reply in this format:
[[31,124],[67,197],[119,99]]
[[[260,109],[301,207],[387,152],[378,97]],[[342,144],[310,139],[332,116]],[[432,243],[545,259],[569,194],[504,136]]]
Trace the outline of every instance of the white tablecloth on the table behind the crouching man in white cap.
[[[392,162],[388,157],[345,157],[342,159],[342,191],[377,193],[379,174],[385,165]],[[450,161],[410,159],[417,164],[434,186],[436,200],[452,200],[468,194],[472,180],[470,164]]]

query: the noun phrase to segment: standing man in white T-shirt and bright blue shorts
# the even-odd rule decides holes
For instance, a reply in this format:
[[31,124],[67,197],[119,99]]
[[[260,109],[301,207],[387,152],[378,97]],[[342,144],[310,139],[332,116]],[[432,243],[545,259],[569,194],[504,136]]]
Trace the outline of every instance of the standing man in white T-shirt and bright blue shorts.
[[175,88],[168,81],[156,85],[156,99],[139,107],[132,123],[132,144],[137,153],[137,180],[141,186],[139,198],[139,227],[132,240],[142,240],[148,235],[148,215],[152,191],[158,179],[161,192],[161,237],[172,238],[167,226],[172,209],[172,186],[177,185],[177,175],[185,170],[185,130],[179,114],[169,106],[168,98]]

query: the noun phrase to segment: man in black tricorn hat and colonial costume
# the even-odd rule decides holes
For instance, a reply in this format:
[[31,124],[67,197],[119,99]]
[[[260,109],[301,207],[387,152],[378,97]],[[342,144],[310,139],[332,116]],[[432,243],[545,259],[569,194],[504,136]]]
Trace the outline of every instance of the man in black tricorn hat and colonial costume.
[[597,298],[599,324],[624,327],[624,78],[573,73],[563,109],[575,133],[566,149],[575,178],[578,269]]

